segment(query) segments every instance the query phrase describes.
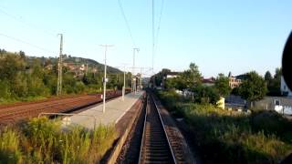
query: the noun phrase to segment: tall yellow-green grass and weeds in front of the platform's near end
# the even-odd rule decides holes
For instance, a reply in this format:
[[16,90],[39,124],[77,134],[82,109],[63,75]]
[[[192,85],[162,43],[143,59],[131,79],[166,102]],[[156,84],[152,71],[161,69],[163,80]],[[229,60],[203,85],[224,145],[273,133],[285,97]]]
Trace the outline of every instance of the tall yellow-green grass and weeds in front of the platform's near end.
[[114,126],[64,131],[59,121],[32,118],[0,129],[0,163],[96,163],[115,138]]

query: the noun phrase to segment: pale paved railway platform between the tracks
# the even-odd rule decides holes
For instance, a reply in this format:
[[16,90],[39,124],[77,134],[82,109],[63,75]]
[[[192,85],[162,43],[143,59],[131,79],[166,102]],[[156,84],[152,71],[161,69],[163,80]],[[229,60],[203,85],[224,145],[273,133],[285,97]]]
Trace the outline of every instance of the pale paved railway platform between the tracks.
[[82,111],[67,120],[70,125],[79,125],[90,129],[99,124],[116,124],[136,101],[142,97],[143,93],[144,91],[137,92],[135,95],[131,93],[127,94],[124,97],[124,101],[121,97],[118,97],[106,102],[105,113],[102,112],[103,104],[100,103],[98,106]]

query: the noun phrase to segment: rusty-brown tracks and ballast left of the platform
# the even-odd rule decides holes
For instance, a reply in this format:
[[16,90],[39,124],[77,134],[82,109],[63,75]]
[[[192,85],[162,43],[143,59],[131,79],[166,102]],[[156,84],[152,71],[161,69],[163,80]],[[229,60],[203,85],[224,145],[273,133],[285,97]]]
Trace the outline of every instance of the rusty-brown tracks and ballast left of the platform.
[[[108,91],[107,100],[120,97],[121,91]],[[0,124],[16,123],[26,118],[37,117],[42,112],[47,113],[72,113],[102,102],[101,94],[90,94],[78,97],[53,98],[36,103],[21,103],[16,106],[0,107]]]

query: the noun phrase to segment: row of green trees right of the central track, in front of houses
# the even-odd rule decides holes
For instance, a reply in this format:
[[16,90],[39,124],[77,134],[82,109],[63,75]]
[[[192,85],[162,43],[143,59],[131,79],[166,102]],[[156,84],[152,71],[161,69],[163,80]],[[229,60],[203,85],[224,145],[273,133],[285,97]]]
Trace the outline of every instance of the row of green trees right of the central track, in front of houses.
[[257,72],[251,71],[245,74],[245,79],[239,87],[232,89],[229,86],[229,78],[224,74],[219,74],[214,85],[203,85],[203,77],[198,66],[190,64],[187,70],[179,73],[177,77],[167,78],[170,69],[162,69],[161,72],[151,77],[154,86],[162,86],[166,89],[177,89],[184,95],[191,97],[193,102],[216,104],[220,97],[235,94],[245,98],[249,102],[254,102],[264,98],[266,95],[277,96],[280,94],[281,69],[276,68],[274,77],[269,72],[265,77]]

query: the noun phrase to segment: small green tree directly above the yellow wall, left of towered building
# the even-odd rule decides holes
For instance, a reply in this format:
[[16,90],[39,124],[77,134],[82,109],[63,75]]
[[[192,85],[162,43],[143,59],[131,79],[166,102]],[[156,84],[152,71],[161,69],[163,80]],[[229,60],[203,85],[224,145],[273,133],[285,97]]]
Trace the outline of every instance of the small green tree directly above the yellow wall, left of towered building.
[[219,74],[215,80],[214,87],[218,90],[220,97],[226,97],[231,92],[231,87],[229,87],[229,78],[225,77],[224,74]]

